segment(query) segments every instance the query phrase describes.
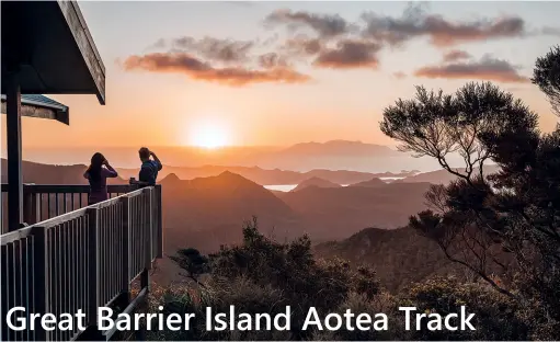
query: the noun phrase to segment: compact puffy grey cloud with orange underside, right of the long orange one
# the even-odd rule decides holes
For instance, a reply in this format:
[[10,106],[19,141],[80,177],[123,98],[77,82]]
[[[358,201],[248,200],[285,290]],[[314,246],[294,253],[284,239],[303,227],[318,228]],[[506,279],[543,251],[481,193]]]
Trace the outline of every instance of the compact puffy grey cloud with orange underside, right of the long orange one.
[[313,65],[322,68],[377,68],[381,46],[373,42],[344,39],[335,48],[322,49]]

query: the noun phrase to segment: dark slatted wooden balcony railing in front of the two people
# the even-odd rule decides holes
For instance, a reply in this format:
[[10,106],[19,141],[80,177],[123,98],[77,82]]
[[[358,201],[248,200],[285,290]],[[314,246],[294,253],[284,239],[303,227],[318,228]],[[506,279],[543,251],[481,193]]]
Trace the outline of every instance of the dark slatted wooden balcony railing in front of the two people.
[[[35,194],[30,195],[34,200],[32,209],[25,210],[27,218],[43,218],[44,214],[47,219],[1,236],[0,340],[76,340],[84,332],[77,324],[72,331],[45,331],[38,320],[33,331],[28,326],[23,331],[8,329],[7,314],[14,307],[23,307],[25,312],[13,317],[27,321],[31,314],[50,312],[59,318],[60,314],[81,309],[94,339],[110,339],[114,331],[101,334],[96,330],[98,307],[118,301],[126,311],[134,310],[149,292],[152,261],[162,255],[161,185],[140,190],[112,185],[108,190],[115,194],[113,198],[77,209],[77,198],[88,192],[88,186],[26,189],[27,194]],[[53,195],[57,198],[54,203]],[[64,200],[59,202],[58,197]],[[56,216],[60,208],[68,213]],[[130,301],[132,283],[137,278],[140,290]]]

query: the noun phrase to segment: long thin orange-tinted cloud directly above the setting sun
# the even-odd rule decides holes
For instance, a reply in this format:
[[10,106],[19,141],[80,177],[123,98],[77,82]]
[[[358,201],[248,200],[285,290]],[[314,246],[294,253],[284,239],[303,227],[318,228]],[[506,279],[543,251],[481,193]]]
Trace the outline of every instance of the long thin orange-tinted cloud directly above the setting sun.
[[310,80],[309,76],[287,67],[274,67],[266,70],[241,67],[216,68],[186,53],[153,53],[144,56],[129,56],[123,62],[123,67],[125,70],[181,72],[195,80],[231,87],[242,87],[251,83],[301,83]]

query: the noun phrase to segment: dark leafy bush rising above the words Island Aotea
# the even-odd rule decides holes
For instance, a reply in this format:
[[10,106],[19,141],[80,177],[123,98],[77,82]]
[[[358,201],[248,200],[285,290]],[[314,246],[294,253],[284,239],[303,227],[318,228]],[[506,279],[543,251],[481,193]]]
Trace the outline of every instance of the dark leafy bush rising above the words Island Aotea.
[[[276,305],[290,306],[293,331],[297,339],[307,339],[312,333],[301,330],[310,307],[328,314],[342,305],[351,293],[370,300],[380,292],[379,281],[372,269],[353,270],[343,260],[315,259],[311,240],[307,236],[288,243],[268,239],[259,231],[256,218],[245,223],[240,246],[222,247],[207,259],[193,249],[180,250],[179,254],[184,256],[173,260],[194,278],[197,280],[202,270],[209,273],[209,282],[199,284],[204,288],[208,284],[220,284],[218,287],[228,288],[225,284],[235,283],[282,294]],[[193,260],[204,261],[204,269]],[[267,307],[263,311],[264,308],[258,307],[256,303],[248,306],[244,300],[244,304],[231,305],[247,307],[244,312],[260,314],[271,309]]]

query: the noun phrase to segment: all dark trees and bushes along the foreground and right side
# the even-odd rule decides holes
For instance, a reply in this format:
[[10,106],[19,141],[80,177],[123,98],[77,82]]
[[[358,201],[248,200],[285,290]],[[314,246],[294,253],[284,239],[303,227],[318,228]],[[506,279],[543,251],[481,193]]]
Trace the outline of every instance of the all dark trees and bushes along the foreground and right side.
[[[560,103],[560,48],[537,61],[534,82],[552,109]],[[553,340],[560,337],[560,126],[537,128],[537,115],[491,83],[469,83],[455,94],[418,88],[384,113],[381,130],[402,150],[435,158],[457,180],[434,185],[430,209],[410,227],[435,242],[470,281],[433,276],[390,294],[370,269],[318,260],[302,237],[277,243],[243,229],[243,243],[202,256],[178,253],[192,285],[162,289],[151,305],[167,314],[194,312],[190,331],[158,332],[155,340]],[[459,153],[462,172],[447,158]],[[483,172],[495,162],[500,171]],[[438,251],[439,252],[439,251]],[[414,258],[411,255],[411,258]],[[375,267],[375,262],[372,262]],[[204,274],[204,275],[203,275]],[[203,276],[201,276],[203,275]],[[204,281],[201,281],[204,278]],[[290,331],[206,331],[205,308],[281,314],[290,306]],[[442,315],[466,306],[476,331],[404,330],[401,306]],[[309,307],[329,312],[385,312],[387,331],[301,329]]]

